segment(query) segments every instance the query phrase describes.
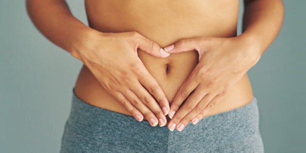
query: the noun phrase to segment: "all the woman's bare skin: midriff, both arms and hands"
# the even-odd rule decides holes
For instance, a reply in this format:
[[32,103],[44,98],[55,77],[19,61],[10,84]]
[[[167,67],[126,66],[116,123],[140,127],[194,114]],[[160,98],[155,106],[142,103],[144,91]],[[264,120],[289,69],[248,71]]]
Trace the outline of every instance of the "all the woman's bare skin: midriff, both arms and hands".
[[[152,126],[156,126],[157,122],[160,126],[166,125],[169,118],[166,120],[165,114],[175,111],[174,116],[170,113],[173,118],[168,126],[170,130],[177,128],[179,131],[189,121],[196,123],[205,116],[238,108],[252,101],[252,86],[246,72],[275,38],[283,14],[281,0],[246,0],[245,32],[236,36],[238,0],[85,0],[89,27],[72,17],[63,0],[27,2],[29,14],[37,28],[53,43],[84,63],[75,85],[76,95],[80,99],[97,107],[134,116],[138,121],[146,119]],[[54,7],[48,12],[34,7],[34,3]],[[272,13],[264,17],[269,10]],[[250,11],[255,13],[251,14]],[[44,19],[43,15],[36,15],[42,12],[46,17],[52,13],[57,18]],[[269,23],[271,19],[274,22]],[[52,25],[58,21],[66,23],[63,24],[66,26]],[[69,33],[68,29],[74,33]],[[62,37],[55,32],[62,34]],[[227,46],[223,49],[216,47],[224,42],[227,42]],[[150,44],[154,44],[154,47]],[[171,44],[175,44],[174,49],[169,47]],[[206,51],[205,44],[210,44],[211,51]],[[235,45],[238,47],[234,48]],[[164,47],[168,51],[172,49],[169,56],[160,54],[160,49]],[[224,48],[230,48],[227,52],[231,53],[225,53]],[[131,53],[124,52],[126,50]],[[225,58],[225,55],[233,58]],[[214,61],[209,61],[210,57],[215,57]],[[229,70],[222,73],[214,70],[225,69],[226,63],[230,64],[231,61],[236,61],[236,64],[227,69],[237,74],[230,75],[233,76],[230,80],[234,81],[219,79],[219,84],[212,83],[216,76],[232,74]],[[205,71],[209,69],[208,66],[211,68],[209,75],[199,75],[201,69],[201,74],[208,74]],[[107,80],[111,76],[118,77]],[[192,83],[190,78],[197,80],[198,84]],[[194,90],[197,85],[207,88]],[[196,96],[191,96],[193,90],[197,91]],[[205,94],[199,94],[204,90]],[[199,109],[200,100],[208,95],[208,91],[213,96],[206,96],[208,98],[202,101]],[[214,97],[220,98],[213,101]],[[186,106],[182,104],[183,101]],[[175,104],[171,105],[171,102]],[[179,127],[179,123],[183,127]]]

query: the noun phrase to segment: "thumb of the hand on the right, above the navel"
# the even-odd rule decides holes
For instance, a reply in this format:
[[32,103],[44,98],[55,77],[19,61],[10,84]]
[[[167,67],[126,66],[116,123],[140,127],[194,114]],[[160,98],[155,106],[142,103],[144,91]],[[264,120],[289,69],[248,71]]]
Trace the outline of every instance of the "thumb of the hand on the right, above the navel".
[[197,43],[193,38],[181,39],[176,41],[174,44],[165,47],[164,50],[170,53],[197,50]]

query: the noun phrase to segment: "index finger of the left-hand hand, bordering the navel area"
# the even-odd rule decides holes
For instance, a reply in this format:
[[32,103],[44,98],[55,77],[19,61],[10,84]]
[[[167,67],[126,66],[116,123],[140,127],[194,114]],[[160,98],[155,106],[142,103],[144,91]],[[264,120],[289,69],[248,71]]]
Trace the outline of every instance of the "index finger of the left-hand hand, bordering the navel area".
[[138,81],[153,95],[160,108],[162,108],[164,115],[167,115],[170,110],[169,102],[156,80],[146,69],[138,71],[137,75]]

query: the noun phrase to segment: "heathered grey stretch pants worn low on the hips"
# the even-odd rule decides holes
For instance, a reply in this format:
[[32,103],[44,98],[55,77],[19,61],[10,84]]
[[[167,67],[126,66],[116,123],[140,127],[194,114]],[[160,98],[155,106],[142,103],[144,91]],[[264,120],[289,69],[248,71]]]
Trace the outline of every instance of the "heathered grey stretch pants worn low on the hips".
[[85,103],[73,89],[61,153],[263,153],[258,124],[255,97],[245,106],[171,132]]

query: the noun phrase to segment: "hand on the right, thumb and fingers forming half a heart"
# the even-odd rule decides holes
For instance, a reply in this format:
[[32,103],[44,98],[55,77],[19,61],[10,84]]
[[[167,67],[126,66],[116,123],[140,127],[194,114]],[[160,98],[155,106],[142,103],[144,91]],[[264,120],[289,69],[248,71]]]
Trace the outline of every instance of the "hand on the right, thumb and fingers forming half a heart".
[[199,53],[199,63],[171,103],[168,124],[171,131],[175,128],[182,131],[189,121],[196,124],[255,65],[259,51],[248,42],[238,36],[195,37],[165,48],[170,53],[194,50]]

